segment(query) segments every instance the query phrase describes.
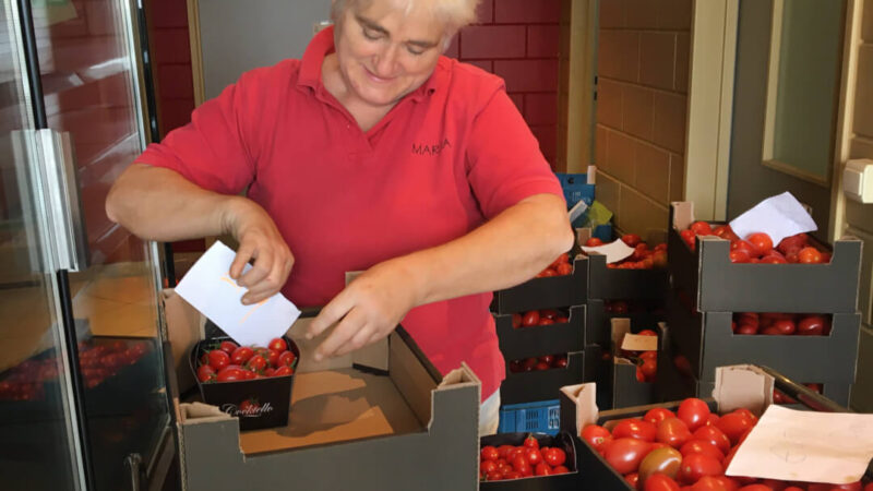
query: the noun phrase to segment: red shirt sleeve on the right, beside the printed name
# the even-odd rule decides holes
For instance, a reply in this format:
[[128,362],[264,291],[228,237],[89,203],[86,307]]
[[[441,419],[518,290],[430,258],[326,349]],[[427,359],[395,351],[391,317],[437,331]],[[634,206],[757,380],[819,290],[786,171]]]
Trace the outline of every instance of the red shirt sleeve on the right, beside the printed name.
[[539,142],[502,86],[475,117],[469,142],[467,177],[488,218],[534,194],[563,199]]

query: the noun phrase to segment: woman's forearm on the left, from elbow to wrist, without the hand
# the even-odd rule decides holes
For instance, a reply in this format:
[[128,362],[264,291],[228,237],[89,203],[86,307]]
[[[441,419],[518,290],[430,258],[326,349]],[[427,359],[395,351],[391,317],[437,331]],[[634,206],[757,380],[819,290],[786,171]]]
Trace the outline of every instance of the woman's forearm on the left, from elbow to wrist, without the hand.
[[172,170],[133,164],[109,190],[106,213],[137,237],[170,242],[227,232],[229,211],[243,201],[199,188]]

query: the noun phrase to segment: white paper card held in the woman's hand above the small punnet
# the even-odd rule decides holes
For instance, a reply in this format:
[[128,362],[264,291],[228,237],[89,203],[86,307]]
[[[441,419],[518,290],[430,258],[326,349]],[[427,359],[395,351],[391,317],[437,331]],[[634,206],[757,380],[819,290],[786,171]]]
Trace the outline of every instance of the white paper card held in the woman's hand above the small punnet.
[[[240,301],[247,289],[230,278],[236,252],[216,241],[184,275],[176,292],[241,346],[266,346],[288,331],[300,310],[276,294],[253,306]],[[251,270],[247,264],[244,271]]]

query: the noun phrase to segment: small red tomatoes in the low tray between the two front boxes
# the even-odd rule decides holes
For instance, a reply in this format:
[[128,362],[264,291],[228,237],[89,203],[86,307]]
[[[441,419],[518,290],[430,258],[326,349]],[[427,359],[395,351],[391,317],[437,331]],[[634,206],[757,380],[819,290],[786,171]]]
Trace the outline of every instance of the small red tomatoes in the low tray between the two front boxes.
[[540,446],[534,435],[521,445],[486,445],[479,452],[479,480],[503,481],[530,476],[570,472],[566,452],[557,446]]

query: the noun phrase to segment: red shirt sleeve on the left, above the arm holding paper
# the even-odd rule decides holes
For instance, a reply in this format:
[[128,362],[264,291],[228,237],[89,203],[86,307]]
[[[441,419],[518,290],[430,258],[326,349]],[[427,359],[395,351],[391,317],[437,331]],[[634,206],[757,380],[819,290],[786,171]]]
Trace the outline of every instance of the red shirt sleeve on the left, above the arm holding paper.
[[203,103],[191,122],[171,131],[162,143],[148,145],[139,164],[175,170],[203,189],[237,194],[255,175],[256,156],[250,113],[256,113],[259,74],[249,72]]

